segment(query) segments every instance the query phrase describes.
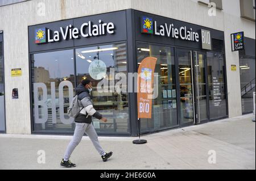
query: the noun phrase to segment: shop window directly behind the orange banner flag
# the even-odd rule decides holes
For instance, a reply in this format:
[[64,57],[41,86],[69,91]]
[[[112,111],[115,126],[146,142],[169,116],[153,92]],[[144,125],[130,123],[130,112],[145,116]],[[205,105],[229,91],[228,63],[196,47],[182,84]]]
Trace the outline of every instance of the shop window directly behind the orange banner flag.
[[137,62],[148,57],[158,58],[158,98],[152,100],[152,118],[141,119],[142,132],[174,127],[177,122],[177,99],[174,49],[151,44],[137,44]]

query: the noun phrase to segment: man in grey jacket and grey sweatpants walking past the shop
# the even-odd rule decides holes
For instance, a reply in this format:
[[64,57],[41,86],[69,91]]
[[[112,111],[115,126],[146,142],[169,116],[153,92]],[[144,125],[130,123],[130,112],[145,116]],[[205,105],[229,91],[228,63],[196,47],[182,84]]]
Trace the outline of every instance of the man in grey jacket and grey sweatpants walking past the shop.
[[75,167],[76,164],[72,163],[69,158],[76,148],[79,145],[82,136],[84,133],[89,136],[90,140],[93,142],[94,147],[101,155],[101,158],[104,162],[108,161],[108,158],[112,156],[112,151],[106,153],[100,145],[98,141],[98,135],[92,125],[92,116],[96,117],[99,120],[107,122],[108,120],[105,117],[94,110],[92,100],[90,99],[90,91],[92,91],[92,82],[89,80],[83,80],[79,86],[76,88],[76,94],[78,95],[78,99],[81,100],[82,110],[79,115],[75,118],[75,132],[73,135],[73,139],[69,142],[68,148],[65,151],[64,158],[62,159],[60,165],[64,167]]

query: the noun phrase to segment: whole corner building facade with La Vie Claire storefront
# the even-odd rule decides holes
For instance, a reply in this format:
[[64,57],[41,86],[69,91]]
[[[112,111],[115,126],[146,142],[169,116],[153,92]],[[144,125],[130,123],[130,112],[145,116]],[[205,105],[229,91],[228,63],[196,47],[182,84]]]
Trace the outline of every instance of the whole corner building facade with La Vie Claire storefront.
[[[254,2],[3,1],[0,131],[72,134],[69,102],[90,79],[94,106],[108,118],[93,119],[98,134],[137,136],[136,78],[129,75],[148,56],[158,58],[158,96],[142,133],[252,112]],[[243,40],[240,50],[233,33]]]

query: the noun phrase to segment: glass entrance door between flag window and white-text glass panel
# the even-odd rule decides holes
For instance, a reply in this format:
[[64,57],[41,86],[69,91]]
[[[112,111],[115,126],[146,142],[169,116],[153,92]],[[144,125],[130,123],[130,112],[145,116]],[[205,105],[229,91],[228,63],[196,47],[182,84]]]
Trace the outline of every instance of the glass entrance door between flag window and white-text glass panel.
[[203,52],[177,49],[181,125],[208,120],[205,57]]

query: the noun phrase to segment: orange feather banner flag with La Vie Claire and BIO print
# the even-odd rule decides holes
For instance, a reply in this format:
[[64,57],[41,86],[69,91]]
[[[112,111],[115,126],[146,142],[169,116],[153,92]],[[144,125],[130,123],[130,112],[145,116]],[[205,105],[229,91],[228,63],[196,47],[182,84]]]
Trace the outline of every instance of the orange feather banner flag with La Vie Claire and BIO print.
[[138,119],[151,118],[155,57],[144,58],[138,69]]

